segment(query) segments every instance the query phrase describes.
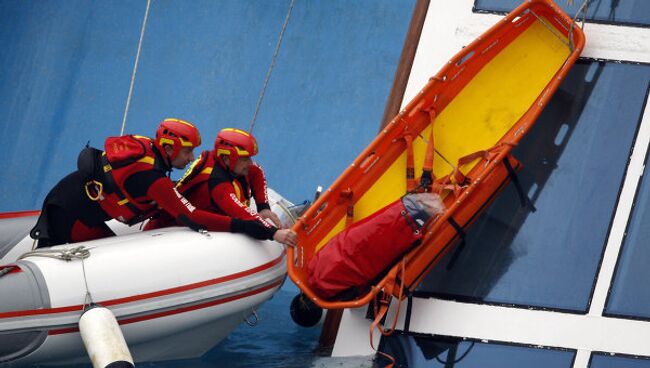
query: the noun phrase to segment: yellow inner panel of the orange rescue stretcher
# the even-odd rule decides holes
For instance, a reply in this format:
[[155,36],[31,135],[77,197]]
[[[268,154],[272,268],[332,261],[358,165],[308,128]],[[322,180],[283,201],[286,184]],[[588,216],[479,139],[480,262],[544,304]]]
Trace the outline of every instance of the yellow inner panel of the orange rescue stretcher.
[[[494,146],[539,97],[570,50],[566,38],[535,20],[500,51],[433,122],[436,177],[448,175],[463,156]],[[413,140],[415,172],[421,173],[431,125]],[[478,159],[461,168],[467,174]],[[406,192],[404,152],[354,205],[359,221]],[[320,250],[345,228],[345,216],[316,246]]]

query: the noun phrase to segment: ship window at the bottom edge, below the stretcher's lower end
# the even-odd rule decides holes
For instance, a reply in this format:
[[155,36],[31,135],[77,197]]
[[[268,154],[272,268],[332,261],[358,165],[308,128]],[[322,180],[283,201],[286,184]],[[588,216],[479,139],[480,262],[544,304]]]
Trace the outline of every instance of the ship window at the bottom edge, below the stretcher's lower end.
[[567,350],[403,333],[383,337],[380,351],[393,356],[396,366],[409,368],[560,368],[571,367],[575,355]]

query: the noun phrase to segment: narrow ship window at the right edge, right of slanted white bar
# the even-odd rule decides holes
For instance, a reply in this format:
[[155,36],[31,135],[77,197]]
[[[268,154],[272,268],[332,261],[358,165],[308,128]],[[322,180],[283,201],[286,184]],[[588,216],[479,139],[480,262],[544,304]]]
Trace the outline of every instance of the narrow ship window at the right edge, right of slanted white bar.
[[645,172],[632,207],[605,307],[608,315],[650,318],[650,289],[644,282],[639,282],[650,278],[650,178],[647,161],[646,158]]

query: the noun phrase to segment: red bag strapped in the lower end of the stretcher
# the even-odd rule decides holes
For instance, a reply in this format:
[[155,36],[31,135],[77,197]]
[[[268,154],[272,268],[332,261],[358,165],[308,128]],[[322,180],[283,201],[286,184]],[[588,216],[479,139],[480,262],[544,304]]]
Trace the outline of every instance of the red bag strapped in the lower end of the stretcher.
[[401,200],[334,236],[308,265],[309,284],[323,298],[365,288],[422,237]]

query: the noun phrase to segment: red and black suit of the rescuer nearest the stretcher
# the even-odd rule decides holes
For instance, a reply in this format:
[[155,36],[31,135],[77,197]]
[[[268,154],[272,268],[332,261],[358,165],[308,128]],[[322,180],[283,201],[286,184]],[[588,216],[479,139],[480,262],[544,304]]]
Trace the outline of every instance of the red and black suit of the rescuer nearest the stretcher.
[[[277,230],[248,206],[250,199],[254,198],[258,211],[270,209],[264,171],[257,164],[249,167],[248,175],[235,176],[221,160],[215,160],[214,151],[204,151],[177,188],[201,210],[241,220],[256,220],[270,231]],[[173,219],[163,217],[150,223],[148,228],[171,225]]]

